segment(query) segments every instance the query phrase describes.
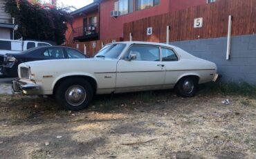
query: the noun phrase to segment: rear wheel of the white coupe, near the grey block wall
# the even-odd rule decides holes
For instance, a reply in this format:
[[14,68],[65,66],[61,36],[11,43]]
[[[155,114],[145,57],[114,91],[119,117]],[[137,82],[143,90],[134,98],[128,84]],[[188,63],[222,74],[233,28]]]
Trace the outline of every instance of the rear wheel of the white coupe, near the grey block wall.
[[197,82],[195,77],[183,77],[176,85],[176,93],[181,97],[193,97],[196,93]]

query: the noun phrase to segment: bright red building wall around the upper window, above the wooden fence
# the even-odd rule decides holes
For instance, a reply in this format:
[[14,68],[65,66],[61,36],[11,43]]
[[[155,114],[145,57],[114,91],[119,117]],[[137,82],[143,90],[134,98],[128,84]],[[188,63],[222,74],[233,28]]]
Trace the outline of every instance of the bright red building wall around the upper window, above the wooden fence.
[[130,14],[114,18],[110,17],[110,12],[114,8],[114,0],[102,1],[100,5],[100,39],[123,37],[123,25],[127,22],[205,3],[206,0],[161,0],[159,5],[152,8],[134,11]]

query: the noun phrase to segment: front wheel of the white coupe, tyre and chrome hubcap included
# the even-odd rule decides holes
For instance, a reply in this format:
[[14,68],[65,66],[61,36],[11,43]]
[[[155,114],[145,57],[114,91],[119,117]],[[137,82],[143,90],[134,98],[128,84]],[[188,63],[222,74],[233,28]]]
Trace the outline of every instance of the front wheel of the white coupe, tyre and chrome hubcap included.
[[93,99],[93,88],[85,79],[68,78],[58,86],[55,97],[63,109],[79,111]]

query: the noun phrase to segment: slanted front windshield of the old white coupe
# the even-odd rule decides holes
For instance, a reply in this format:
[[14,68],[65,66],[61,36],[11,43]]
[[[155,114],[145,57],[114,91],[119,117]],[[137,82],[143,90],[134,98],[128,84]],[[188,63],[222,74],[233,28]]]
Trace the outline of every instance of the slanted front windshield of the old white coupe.
[[104,46],[95,57],[106,57],[110,59],[117,59],[122,50],[124,50],[125,44],[111,44]]

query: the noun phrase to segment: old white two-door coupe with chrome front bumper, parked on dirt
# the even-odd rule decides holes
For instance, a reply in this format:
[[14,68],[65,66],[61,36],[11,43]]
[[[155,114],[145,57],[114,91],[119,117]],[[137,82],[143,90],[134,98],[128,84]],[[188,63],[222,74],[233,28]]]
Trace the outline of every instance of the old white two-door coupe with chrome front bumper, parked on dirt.
[[192,97],[198,84],[215,81],[217,66],[167,44],[118,42],[91,59],[26,62],[19,65],[13,91],[55,95],[64,109],[86,108],[95,94],[176,88]]

